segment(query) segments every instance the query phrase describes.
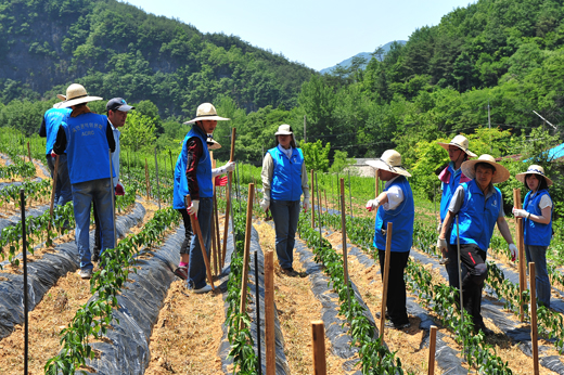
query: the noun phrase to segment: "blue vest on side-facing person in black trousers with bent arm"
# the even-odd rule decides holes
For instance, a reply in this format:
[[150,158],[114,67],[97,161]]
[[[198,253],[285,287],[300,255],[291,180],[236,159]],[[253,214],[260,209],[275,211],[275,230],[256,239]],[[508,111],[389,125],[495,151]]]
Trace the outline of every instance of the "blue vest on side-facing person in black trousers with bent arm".
[[374,246],[380,249],[386,249],[386,236],[382,234],[382,230],[387,229],[387,223],[392,222],[392,251],[406,253],[411,249],[413,244],[413,221],[415,220],[415,206],[413,204],[413,192],[409,185],[408,179],[403,176],[394,180],[389,186],[384,189],[387,192],[392,186],[399,186],[403,192],[403,201],[395,209],[385,210],[380,206],[376,215],[376,224],[374,233]]

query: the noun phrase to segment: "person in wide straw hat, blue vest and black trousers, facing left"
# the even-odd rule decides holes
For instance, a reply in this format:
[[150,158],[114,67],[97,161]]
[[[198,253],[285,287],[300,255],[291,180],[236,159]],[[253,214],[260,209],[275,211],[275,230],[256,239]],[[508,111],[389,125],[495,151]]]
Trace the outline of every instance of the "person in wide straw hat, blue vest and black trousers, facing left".
[[382,181],[386,181],[384,192],[367,203],[369,211],[377,210],[374,231],[374,247],[379,250],[380,273],[384,276],[386,256],[387,223],[392,222],[392,247],[386,302],[386,326],[402,329],[410,326],[406,308],[406,281],[403,271],[413,244],[413,222],[415,206],[413,192],[407,177],[411,174],[401,166],[401,155],[395,150],[386,150],[376,160],[367,164],[377,170]]

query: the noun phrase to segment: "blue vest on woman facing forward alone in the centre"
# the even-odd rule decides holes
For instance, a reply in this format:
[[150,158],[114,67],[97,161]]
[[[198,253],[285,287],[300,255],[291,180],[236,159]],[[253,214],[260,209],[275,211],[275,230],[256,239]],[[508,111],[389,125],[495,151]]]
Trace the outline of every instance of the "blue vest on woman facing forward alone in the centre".
[[299,201],[302,197],[302,166],[304,154],[299,148],[292,150],[290,159],[278,146],[268,151],[274,161],[270,198],[277,201]]

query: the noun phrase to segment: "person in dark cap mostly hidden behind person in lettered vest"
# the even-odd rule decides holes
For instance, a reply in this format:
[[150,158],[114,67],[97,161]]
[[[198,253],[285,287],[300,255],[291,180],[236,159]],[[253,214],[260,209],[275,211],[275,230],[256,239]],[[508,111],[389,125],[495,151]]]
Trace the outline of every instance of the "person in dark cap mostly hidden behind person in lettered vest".
[[[114,172],[116,174],[114,179],[114,199],[116,195],[125,195],[124,185],[119,182],[119,135],[121,132],[119,128],[121,128],[126,124],[127,113],[136,107],[128,105],[126,101],[121,98],[111,99],[106,103],[106,112],[107,112],[107,121],[112,127],[112,133],[114,134],[114,141],[116,142],[116,148],[112,153],[112,167],[114,168]],[[114,201],[115,202],[115,201]],[[114,206],[115,207],[115,206]],[[93,204],[94,211],[94,249],[92,255],[92,260],[98,261],[100,259],[100,249],[102,244],[102,235],[100,233],[100,218],[98,216],[98,208],[95,203]]]

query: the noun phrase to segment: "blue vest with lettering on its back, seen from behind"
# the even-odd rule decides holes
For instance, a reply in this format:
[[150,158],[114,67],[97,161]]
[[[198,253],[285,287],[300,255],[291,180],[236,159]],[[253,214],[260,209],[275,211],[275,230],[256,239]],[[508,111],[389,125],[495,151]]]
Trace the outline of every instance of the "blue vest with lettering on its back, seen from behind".
[[[110,178],[107,117],[88,113],[67,117],[61,124],[66,133],[66,155],[70,183]],[[115,172],[112,169],[112,174]]]

